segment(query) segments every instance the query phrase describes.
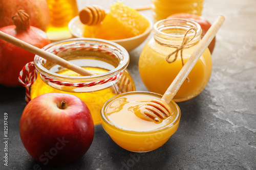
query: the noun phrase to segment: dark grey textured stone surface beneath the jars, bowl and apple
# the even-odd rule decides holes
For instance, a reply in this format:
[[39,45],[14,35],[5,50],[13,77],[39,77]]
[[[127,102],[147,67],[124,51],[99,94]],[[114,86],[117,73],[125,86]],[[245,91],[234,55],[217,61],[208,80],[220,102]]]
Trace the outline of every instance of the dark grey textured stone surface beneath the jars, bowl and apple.
[[[109,2],[97,4],[108,8]],[[123,2],[133,7],[151,3],[150,0]],[[78,4],[83,5],[81,1]],[[226,17],[212,54],[211,79],[199,96],[178,103],[182,113],[179,129],[161,148],[144,154],[125,151],[97,125],[88,153],[76,163],[59,169],[256,169],[255,9],[255,0],[205,0],[203,16],[210,22],[220,14]],[[152,17],[150,10],[141,13]],[[137,90],[144,91],[137,65],[145,42],[129,52],[128,67]],[[37,164],[19,137],[24,96],[23,87],[0,86],[0,137],[4,138],[3,118],[7,112],[10,138],[8,167],[3,162],[4,143],[0,144],[0,169],[33,169]]]

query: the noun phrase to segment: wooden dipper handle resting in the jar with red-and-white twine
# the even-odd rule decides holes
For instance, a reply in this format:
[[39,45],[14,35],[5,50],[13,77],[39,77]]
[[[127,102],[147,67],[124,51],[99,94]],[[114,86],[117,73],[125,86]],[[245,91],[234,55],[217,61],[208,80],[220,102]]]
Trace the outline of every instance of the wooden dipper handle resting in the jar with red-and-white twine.
[[10,36],[2,31],[0,31],[0,38],[13,44],[16,45],[20,48],[23,48],[24,50],[27,50],[35,55],[38,55],[46,60],[49,60],[55,64],[58,64],[62,67],[68,68],[72,71],[77,72],[78,74],[82,75],[82,76],[92,76],[95,75],[93,72],[90,72],[82,67],[79,67],[71,62],[68,62],[67,60],[64,60],[52,53],[46,52],[44,50],[41,50],[40,48],[33,46],[27,42],[24,42],[22,40],[19,40],[13,36]]

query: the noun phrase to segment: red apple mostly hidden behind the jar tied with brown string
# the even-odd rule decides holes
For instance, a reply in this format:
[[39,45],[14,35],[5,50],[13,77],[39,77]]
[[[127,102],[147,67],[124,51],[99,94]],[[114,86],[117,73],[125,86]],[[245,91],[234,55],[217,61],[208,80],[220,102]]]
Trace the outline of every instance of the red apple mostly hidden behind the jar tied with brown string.
[[[189,13],[177,13],[177,14],[173,14],[167,17],[167,19],[170,18],[182,18],[182,19],[188,19],[191,21],[195,21],[197,23],[199,23],[199,25],[202,28],[202,36],[204,36],[206,34],[206,32],[209,30],[211,24],[210,22],[205,19],[203,16],[199,16],[196,14],[189,14]],[[209,44],[208,48],[210,53],[212,53],[212,51],[214,51],[214,46],[215,46],[215,38],[212,39],[211,43]]]

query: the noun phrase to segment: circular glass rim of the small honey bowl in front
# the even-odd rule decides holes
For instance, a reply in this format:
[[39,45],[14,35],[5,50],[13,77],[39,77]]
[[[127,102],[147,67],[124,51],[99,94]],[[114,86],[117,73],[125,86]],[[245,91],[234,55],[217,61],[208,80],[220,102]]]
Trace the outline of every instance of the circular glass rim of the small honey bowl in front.
[[[174,101],[171,101],[177,108],[177,116],[175,117],[175,119],[173,120],[173,122],[171,122],[170,124],[167,124],[161,128],[158,128],[158,129],[155,129],[155,130],[151,130],[151,131],[134,131],[134,130],[123,130],[121,129],[120,127],[116,126],[115,124],[113,124],[112,122],[110,122],[110,120],[108,118],[105,117],[105,115],[103,114],[104,112],[104,109],[106,106],[108,106],[108,104],[110,102],[112,102],[113,100],[119,98],[120,96],[123,96],[123,95],[126,95],[126,94],[150,94],[150,95],[154,95],[154,96],[158,96],[160,99],[162,98],[162,95],[161,94],[158,94],[158,93],[155,93],[155,92],[150,92],[150,91],[130,91],[130,92],[125,92],[125,93],[121,93],[121,94],[118,94],[112,98],[110,98],[108,101],[106,101],[104,103],[104,105],[102,106],[101,110],[100,110],[100,116],[102,118],[102,120],[104,122],[106,122],[108,125],[112,126],[112,127],[115,127],[117,129],[120,129],[121,131],[125,131],[126,133],[132,133],[132,134],[145,134],[145,133],[148,133],[148,134],[151,134],[151,133],[156,133],[156,132],[161,132],[161,131],[164,131],[168,128],[171,128],[173,127],[174,125],[176,125],[178,122],[179,122],[179,119],[181,117],[181,112],[180,112],[180,108],[179,106],[174,102]],[[145,120],[146,121],[146,120]]]

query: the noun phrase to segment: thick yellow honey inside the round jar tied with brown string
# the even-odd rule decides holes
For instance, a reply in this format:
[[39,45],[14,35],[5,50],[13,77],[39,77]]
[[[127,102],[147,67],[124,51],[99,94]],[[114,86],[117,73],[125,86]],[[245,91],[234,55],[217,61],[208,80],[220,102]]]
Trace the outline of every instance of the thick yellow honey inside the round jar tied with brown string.
[[[164,31],[166,34],[174,34],[174,32],[177,35],[183,34],[180,29]],[[172,39],[170,43],[180,43],[175,40]],[[196,46],[197,44],[189,48],[184,48],[182,51],[184,63],[186,63],[190,55],[195,51]],[[176,48],[159,44],[154,39],[148,41],[144,46],[139,58],[139,72],[142,82],[149,91],[163,95],[178,75],[182,68],[181,52],[178,53],[175,62],[168,63],[166,61],[166,56],[175,50]],[[169,60],[173,60],[174,56]],[[189,73],[188,79],[181,85],[173,100],[175,102],[182,102],[194,98],[201,93],[210,79],[211,69],[211,55],[207,48]]]

